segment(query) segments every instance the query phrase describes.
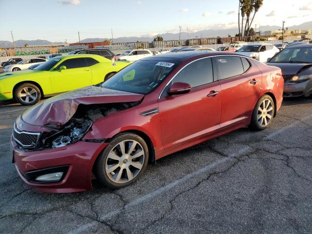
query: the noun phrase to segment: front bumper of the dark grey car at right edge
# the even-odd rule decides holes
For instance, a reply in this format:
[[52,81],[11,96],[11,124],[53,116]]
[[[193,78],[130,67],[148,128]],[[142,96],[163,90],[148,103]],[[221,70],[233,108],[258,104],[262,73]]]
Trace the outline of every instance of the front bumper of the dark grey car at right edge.
[[312,94],[312,79],[302,82],[289,82],[284,83],[283,97],[309,97]]

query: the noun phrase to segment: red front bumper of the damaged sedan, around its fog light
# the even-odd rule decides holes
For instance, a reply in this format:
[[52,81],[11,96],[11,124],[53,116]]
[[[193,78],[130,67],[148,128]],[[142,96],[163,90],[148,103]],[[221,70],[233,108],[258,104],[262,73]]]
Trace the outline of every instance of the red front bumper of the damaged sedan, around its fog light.
[[[94,162],[108,143],[78,141],[63,147],[22,151],[11,137],[13,162],[20,177],[31,187],[44,193],[75,193],[92,189],[91,176]],[[58,169],[59,168],[59,169]],[[62,170],[58,182],[34,181],[34,175]]]

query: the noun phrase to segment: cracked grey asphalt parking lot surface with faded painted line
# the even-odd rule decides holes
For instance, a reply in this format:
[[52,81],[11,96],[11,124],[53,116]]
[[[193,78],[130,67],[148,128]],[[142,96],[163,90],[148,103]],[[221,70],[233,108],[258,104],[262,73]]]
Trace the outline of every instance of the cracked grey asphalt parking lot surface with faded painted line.
[[312,99],[284,100],[273,124],[243,128],[148,165],[133,185],[41,194],[12,164],[23,111],[0,107],[0,233],[312,233]]

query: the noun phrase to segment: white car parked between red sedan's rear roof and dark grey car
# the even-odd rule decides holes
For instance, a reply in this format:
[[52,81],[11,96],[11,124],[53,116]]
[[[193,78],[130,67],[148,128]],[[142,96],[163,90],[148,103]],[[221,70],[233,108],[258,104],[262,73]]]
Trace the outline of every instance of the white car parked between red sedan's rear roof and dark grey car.
[[259,60],[260,62],[267,62],[268,59],[272,58],[279,52],[272,44],[248,44],[244,45],[236,51],[238,54],[249,56],[253,59]]

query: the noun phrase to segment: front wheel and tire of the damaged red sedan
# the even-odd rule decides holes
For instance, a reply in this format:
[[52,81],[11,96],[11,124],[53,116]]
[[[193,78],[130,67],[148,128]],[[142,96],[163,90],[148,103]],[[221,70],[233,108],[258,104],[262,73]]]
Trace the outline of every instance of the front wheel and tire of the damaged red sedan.
[[142,175],[148,157],[147,144],[141,137],[121,133],[114,137],[97,159],[96,176],[107,187],[126,187]]

